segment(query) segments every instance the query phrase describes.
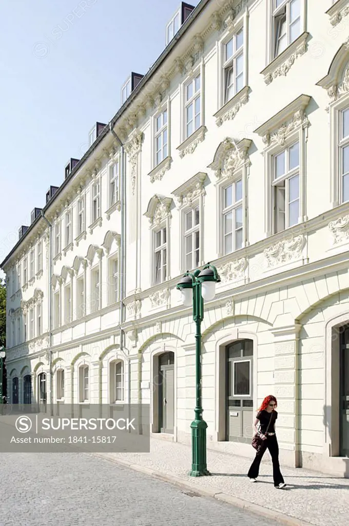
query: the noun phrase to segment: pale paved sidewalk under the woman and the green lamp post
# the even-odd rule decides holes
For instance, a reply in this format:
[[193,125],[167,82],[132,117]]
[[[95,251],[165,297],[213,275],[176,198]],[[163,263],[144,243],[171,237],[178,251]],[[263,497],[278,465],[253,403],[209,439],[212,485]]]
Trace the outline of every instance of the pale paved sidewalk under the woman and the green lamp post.
[[[262,462],[258,482],[251,483],[246,476],[250,459],[212,450],[207,451],[207,464],[212,476],[189,477],[190,446],[156,438],[150,439],[150,453],[97,454],[200,495],[209,495],[290,526],[348,524],[349,479],[281,467],[288,487],[277,490],[273,486],[271,461]],[[268,452],[265,457],[269,457]],[[173,509],[177,505],[182,509],[186,504],[184,500],[171,503]]]

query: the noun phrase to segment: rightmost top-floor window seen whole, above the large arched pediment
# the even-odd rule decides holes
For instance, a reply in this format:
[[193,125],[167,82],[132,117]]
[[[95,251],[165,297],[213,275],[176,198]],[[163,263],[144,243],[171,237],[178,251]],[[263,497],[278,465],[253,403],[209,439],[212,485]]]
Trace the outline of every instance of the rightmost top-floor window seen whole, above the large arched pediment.
[[224,103],[244,86],[243,28],[224,44],[223,50]]

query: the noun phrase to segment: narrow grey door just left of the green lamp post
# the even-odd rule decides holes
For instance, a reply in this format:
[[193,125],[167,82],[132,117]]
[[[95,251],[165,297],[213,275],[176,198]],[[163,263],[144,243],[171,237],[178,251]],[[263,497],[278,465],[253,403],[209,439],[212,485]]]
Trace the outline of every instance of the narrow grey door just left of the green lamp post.
[[173,433],[174,428],[174,353],[159,356],[159,428],[160,433]]

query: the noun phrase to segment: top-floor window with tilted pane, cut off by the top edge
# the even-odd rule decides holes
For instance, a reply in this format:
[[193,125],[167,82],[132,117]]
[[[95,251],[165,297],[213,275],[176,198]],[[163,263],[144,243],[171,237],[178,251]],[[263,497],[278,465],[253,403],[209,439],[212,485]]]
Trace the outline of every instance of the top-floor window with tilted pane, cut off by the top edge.
[[301,0],[273,1],[274,56],[301,34]]

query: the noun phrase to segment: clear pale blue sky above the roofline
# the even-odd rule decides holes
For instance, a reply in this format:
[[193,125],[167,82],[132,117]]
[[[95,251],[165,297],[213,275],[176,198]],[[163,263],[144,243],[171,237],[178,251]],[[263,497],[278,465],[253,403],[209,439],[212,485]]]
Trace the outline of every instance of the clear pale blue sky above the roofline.
[[147,73],[161,54],[179,5],[1,1],[0,262],[48,187],[63,183],[69,158],[86,152],[90,128],[115,115],[130,72]]

